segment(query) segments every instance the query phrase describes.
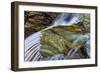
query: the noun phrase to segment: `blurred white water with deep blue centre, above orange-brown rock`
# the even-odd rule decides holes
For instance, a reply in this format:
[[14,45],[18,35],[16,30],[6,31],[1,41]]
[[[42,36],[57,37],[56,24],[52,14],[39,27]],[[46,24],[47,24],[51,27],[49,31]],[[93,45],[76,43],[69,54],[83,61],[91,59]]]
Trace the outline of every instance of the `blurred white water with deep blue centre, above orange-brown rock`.
[[77,13],[62,13],[60,18],[54,21],[53,26],[70,26],[80,22],[80,14]]

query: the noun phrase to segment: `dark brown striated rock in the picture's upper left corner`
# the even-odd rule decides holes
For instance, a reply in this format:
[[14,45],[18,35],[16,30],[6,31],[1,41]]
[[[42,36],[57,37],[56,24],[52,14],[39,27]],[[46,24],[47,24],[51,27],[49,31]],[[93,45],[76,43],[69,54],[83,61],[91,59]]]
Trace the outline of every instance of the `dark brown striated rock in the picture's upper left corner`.
[[51,25],[59,13],[25,11],[25,38]]

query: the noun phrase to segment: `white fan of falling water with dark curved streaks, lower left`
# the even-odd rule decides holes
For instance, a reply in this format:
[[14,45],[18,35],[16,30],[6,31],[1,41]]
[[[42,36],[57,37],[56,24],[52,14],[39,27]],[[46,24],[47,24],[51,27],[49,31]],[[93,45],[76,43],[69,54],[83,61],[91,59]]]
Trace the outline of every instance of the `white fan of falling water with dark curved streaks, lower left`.
[[37,61],[41,58],[40,49],[41,32],[36,32],[25,39],[24,60]]

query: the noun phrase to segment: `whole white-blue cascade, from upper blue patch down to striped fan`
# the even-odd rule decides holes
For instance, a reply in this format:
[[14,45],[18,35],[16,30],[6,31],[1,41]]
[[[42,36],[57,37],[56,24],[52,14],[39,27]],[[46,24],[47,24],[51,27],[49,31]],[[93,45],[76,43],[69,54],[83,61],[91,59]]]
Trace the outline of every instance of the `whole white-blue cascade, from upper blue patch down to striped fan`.
[[39,52],[41,32],[57,26],[70,26],[80,22],[80,15],[76,13],[62,13],[51,26],[41,30],[40,32],[33,33],[25,39],[24,45],[24,61],[39,61],[42,56]]

